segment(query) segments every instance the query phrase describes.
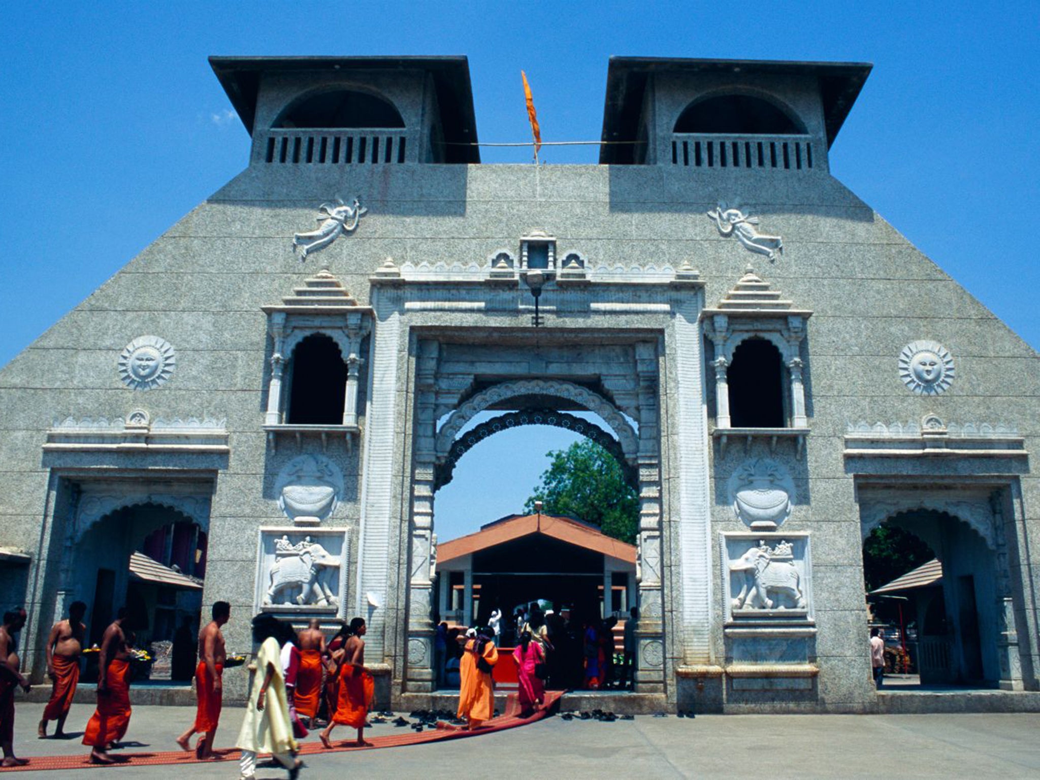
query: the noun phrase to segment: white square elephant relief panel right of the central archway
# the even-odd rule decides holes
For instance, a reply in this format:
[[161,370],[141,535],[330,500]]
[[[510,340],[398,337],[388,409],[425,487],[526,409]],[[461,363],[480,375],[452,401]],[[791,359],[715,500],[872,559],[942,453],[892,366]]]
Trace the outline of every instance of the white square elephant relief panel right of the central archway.
[[809,535],[722,534],[726,619],[809,618]]

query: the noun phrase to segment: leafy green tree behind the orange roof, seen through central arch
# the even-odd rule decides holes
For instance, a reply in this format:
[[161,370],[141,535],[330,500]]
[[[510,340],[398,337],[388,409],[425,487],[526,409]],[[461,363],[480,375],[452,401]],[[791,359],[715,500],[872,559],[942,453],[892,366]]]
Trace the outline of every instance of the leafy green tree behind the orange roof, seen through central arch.
[[524,510],[534,512],[535,501],[542,501],[547,515],[570,515],[598,525],[608,537],[635,544],[640,499],[614,456],[588,439],[548,456],[552,463]]

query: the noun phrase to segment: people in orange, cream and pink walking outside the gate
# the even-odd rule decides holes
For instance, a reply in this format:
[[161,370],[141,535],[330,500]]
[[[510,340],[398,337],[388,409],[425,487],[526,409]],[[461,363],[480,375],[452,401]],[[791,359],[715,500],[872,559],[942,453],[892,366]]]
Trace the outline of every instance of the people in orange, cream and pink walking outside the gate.
[[[69,617],[58,621],[47,641],[47,671],[52,688],[50,701],[40,721],[37,732],[47,736],[47,727],[55,721],[54,736],[64,735],[66,719],[79,682],[81,658],[84,653],[85,626],[82,622],[86,605],[75,602]],[[0,748],[3,766],[21,766],[27,759],[14,751],[15,690],[28,692],[29,681],[21,673],[17,635],[25,627],[26,612],[16,609],[3,617],[0,626]],[[199,632],[198,665],[194,670],[198,706],[194,722],[176,743],[185,751],[192,750],[190,740],[198,734],[196,755],[206,759],[213,755],[213,745],[219,725],[224,696],[224,672],[229,666],[223,628],[231,619],[231,606],[217,601],[212,607],[212,620]],[[90,749],[92,763],[111,764],[120,759],[109,751],[123,740],[130,726],[130,684],[132,665],[141,657],[133,649],[132,626],[126,609],[105,629],[99,647],[97,708],[83,732],[83,745]],[[290,778],[303,768],[297,757],[298,739],[309,729],[323,725],[321,744],[332,749],[331,736],[338,725],[357,731],[354,746],[369,746],[364,739],[368,713],[374,693],[371,672],[365,667],[367,630],[362,618],[344,623],[327,641],[317,620],[311,620],[298,633],[288,622],[271,615],[260,614],[253,619],[253,642],[257,647],[254,673],[246,703],[245,718],[235,746],[241,751],[240,773],[252,778],[259,753],[269,753],[284,766]],[[492,671],[498,661],[495,632],[485,626],[460,633],[454,642],[453,656],[459,661],[460,697],[458,719],[465,728],[482,728],[494,714]],[[536,670],[544,665],[544,652],[529,632],[524,632],[516,649],[518,667],[529,671],[529,679],[521,687],[521,704],[532,711],[544,702],[544,692]],[[233,660],[233,659],[232,659]],[[322,722],[323,721],[323,722]]]

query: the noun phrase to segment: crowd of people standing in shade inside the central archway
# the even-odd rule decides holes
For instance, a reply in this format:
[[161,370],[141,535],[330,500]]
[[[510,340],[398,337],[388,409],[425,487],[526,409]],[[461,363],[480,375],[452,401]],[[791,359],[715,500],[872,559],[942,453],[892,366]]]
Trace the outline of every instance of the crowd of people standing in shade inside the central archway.
[[[635,664],[635,625],[639,610],[632,607],[624,625],[624,653],[616,657],[614,629],[618,619],[610,616],[579,619],[573,612],[563,608],[558,613],[543,610],[538,602],[517,607],[512,621],[506,624],[501,610],[492,609],[486,628],[490,630],[496,647],[523,647],[523,658],[516,656],[518,670],[521,662],[536,664],[538,680],[543,686],[556,691],[572,690],[624,690],[633,686]],[[460,636],[466,627],[450,626],[441,622],[434,643],[434,664],[438,687],[454,688],[461,685],[460,667],[464,651]],[[472,630],[472,629],[470,629]],[[524,634],[529,636],[524,642]],[[530,649],[530,643],[535,649]],[[532,654],[539,659],[531,661]],[[521,677],[521,690],[523,687]]]

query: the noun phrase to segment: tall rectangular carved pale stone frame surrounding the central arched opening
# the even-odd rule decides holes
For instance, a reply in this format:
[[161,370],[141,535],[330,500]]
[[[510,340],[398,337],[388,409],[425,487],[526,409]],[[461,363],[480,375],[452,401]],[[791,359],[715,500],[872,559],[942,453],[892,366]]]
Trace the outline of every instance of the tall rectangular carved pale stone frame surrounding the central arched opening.
[[[392,699],[435,687],[437,489],[474,436],[516,424],[521,412],[574,424],[571,411],[603,420],[584,435],[614,451],[638,487],[636,691],[673,698],[676,666],[711,660],[701,283],[668,269],[617,280],[635,286],[547,287],[532,328],[517,276],[505,291],[435,276],[388,263],[371,279],[356,606],[373,657],[387,659]],[[583,313],[564,316],[571,310]],[[503,414],[466,430],[488,411]]]

